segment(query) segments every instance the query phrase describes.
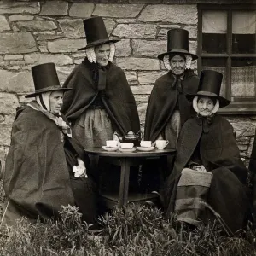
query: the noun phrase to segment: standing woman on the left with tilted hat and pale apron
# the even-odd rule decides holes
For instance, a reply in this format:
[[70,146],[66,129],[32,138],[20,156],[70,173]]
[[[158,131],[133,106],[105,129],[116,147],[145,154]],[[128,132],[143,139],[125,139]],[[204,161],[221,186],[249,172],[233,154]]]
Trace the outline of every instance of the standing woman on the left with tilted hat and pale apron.
[[[62,112],[84,148],[96,148],[113,140],[115,131],[119,137],[137,133],[140,122],[125,73],[112,63],[113,43],[119,40],[108,38],[102,17],[84,20],[84,31],[87,45],[80,50],[85,50],[85,58],[63,85],[73,90],[65,93]],[[96,170],[97,159],[90,160]]]

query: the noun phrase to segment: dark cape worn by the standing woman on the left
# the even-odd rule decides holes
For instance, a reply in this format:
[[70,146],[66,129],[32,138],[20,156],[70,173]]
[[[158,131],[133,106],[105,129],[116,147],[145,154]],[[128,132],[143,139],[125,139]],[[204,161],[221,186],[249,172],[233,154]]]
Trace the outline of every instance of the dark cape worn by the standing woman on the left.
[[63,87],[73,88],[65,93],[61,109],[68,121],[73,123],[78,119],[99,94],[112,120],[113,128],[120,135],[140,130],[136,102],[125,73],[111,62],[102,70],[85,59],[73,69]]

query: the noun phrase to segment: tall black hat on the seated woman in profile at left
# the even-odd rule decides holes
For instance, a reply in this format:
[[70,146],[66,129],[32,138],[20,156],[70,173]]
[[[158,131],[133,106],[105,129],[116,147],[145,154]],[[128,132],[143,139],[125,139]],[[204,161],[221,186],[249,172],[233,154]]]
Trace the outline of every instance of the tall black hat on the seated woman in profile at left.
[[33,66],[31,70],[34,80],[35,92],[26,95],[26,98],[30,98],[47,91],[71,90],[70,88],[61,88],[61,84],[55,68],[55,63],[44,63]]

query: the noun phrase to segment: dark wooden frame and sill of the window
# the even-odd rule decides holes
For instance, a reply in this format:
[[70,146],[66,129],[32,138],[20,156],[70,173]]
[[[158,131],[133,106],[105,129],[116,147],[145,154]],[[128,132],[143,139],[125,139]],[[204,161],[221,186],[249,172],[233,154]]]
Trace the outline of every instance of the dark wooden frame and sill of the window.
[[[203,58],[222,58],[226,60],[226,88],[224,97],[230,100],[231,96],[231,64],[232,58],[234,57],[249,57],[255,58],[256,61],[256,53],[255,54],[232,54],[232,11],[233,10],[256,10],[255,4],[198,4],[198,44],[197,44],[197,68],[199,73],[202,69],[202,59]],[[227,18],[227,52],[223,54],[215,54],[215,53],[202,53],[202,12],[205,10],[226,10],[228,14]],[[225,108],[219,108],[218,113],[222,114],[256,114],[256,82],[255,82],[255,100],[247,101],[247,102],[239,102],[234,101],[230,102],[230,105]],[[241,97],[242,99],[242,97]]]

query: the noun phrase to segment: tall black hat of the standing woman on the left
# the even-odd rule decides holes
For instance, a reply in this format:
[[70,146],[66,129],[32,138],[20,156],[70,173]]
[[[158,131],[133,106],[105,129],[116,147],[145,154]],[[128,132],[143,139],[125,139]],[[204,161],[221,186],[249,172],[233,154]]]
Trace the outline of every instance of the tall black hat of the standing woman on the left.
[[100,44],[119,42],[119,40],[108,38],[108,32],[102,17],[91,17],[83,22],[87,45],[79,50]]

